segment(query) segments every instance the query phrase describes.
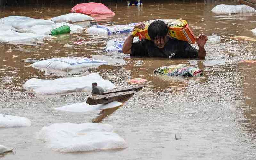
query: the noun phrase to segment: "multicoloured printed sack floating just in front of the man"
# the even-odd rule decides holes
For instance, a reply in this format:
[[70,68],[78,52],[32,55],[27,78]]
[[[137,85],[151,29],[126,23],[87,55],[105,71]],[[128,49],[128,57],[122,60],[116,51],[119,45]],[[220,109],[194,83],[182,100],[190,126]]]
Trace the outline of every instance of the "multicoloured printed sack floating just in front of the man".
[[191,67],[185,64],[163,66],[154,70],[154,73],[162,73],[168,76],[186,76],[195,77],[203,75],[203,71],[199,68]]

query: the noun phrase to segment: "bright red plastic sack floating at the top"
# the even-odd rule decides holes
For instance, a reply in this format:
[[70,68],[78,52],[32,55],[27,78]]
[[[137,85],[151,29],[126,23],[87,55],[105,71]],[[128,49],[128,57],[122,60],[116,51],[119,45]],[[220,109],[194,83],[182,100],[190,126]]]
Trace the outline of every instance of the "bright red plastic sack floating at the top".
[[115,15],[115,13],[108,9],[104,4],[95,2],[76,4],[76,6],[71,9],[71,13],[82,13],[87,15]]

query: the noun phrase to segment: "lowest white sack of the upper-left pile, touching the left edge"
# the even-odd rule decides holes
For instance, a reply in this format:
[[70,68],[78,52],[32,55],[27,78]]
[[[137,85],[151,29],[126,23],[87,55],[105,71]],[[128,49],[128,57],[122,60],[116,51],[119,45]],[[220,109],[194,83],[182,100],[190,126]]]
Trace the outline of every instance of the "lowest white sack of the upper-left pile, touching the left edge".
[[33,33],[18,33],[12,30],[0,32],[0,41],[9,43],[29,43],[51,39],[53,36],[36,35]]

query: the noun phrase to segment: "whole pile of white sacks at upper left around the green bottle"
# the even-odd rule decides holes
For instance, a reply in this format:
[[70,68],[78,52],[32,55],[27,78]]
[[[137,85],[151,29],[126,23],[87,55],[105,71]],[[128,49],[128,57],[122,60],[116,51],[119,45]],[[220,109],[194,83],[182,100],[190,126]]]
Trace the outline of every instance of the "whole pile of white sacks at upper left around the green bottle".
[[0,41],[9,43],[31,43],[54,38],[49,36],[52,29],[63,25],[70,27],[70,32],[84,31],[85,28],[66,22],[93,20],[85,14],[71,13],[49,20],[24,16],[8,16],[0,19]]

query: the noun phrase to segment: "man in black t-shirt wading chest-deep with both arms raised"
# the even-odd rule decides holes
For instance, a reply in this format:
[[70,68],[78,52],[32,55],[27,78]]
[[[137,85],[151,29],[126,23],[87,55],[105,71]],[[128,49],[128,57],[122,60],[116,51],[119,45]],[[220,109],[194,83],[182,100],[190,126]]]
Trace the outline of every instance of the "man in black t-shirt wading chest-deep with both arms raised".
[[[145,24],[140,22],[134,28],[144,29]],[[148,35],[152,41],[142,39],[135,43],[132,43],[134,36],[128,36],[123,45],[123,53],[130,54],[130,56],[145,57],[205,58],[204,45],[207,41],[207,36],[204,34],[200,34],[196,38],[199,50],[193,48],[186,41],[171,38],[168,34],[168,27],[161,20],[154,21],[149,25]]]

